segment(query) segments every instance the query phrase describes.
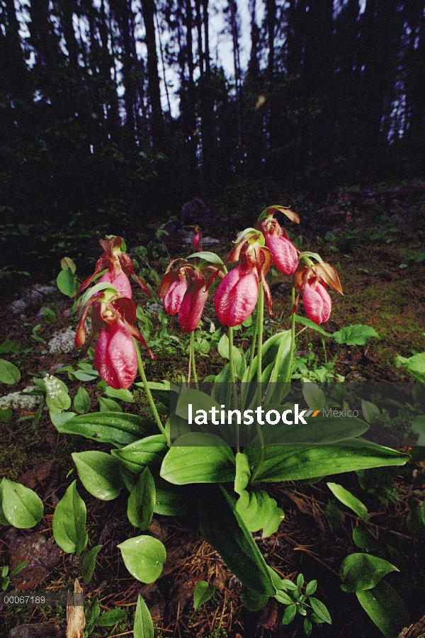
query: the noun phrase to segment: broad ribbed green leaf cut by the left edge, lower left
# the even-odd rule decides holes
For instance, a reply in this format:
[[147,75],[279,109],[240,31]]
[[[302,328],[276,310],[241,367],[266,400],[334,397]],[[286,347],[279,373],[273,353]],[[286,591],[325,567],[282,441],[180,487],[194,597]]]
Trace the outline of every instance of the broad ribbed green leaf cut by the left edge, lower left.
[[41,520],[43,510],[42,500],[33,490],[4,479],[3,513],[10,525],[19,530],[34,527]]

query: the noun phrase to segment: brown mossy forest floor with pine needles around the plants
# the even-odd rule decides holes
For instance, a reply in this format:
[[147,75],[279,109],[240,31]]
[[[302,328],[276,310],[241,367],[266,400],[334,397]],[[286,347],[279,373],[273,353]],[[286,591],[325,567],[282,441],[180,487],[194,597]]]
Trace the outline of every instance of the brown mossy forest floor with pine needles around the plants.
[[[350,381],[412,381],[406,370],[395,365],[395,357],[397,354],[410,357],[425,350],[424,191],[393,195],[354,191],[353,194],[339,194],[335,201],[322,206],[319,211],[314,203],[305,199],[294,208],[300,213],[301,224],[300,230],[297,229],[300,237],[293,233],[293,240],[301,250],[308,248],[319,252],[323,259],[336,265],[344,290],[344,297],[332,293],[331,319],[323,328],[335,332],[345,325],[361,323],[375,328],[380,337],[365,346],[341,346],[328,339],[323,345],[320,335],[306,330],[297,339],[298,357],[308,357],[309,352],[314,352],[314,357],[310,358],[310,366],[314,369],[325,364],[326,356],[326,362],[331,362],[331,374],[343,375]],[[246,225],[251,225],[252,221]],[[216,250],[224,256],[234,238],[234,232],[231,233],[229,228],[241,230],[240,213],[219,216],[218,222],[220,232],[212,225],[208,230],[211,237],[220,238],[220,244],[205,246],[205,250]],[[285,228],[288,229],[288,225],[285,224]],[[147,245],[155,240],[155,230],[149,233],[140,238],[140,243]],[[185,234],[162,235],[158,243],[164,245],[163,253],[159,252],[149,266],[161,275],[164,272],[161,255],[164,258],[168,252],[172,257],[184,256],[182,242],[185,237]],[[131,255],[132,251],[129,252]],[[147,268],[145,270],[148,272]],[[77,270],[77,274],[82,279],[85,273],[80,274]],[[151,276],[153,284],[155,278]],[[44,273],[44,277],[36,279],[31,273],[33,284],[50,284],[50,279],[52,274],[46,276]],[[269,320],[268,331],[271,334],[289,327],[290,287],[288,279],[285,281],[277,273],[271,274],[270,284],[273,317]],[[21,298],[25,306],[16,306],[17,298]],[[136,291],[135,299],[145,306],[146,298]],[[11,309],[13,301],[15,310],[18,308],[15,313]],[[26,296],[15,294],[14,298],[8,298],[7,304],[0,309],[2,342],[7,344],[7,340],[11,340],[18,346],[8,352],[7,346],[2,349],[0,344],[0,352],[1,357],[18,366],[21,380],[11,388],[2,384],[3,395],[33,385],[33,376],[40,376],[41,371],[57,374],[61,365],[77,364],[77,353],[72,349],[67,351],[65,346],[65,352],[61,352],[49,347],[52,337],[63,334],[69,325],[75,327],[76,318],[70,315],[71,307],[72,301],[64,298],[54,286],[51,289],[32,286]],[[42,313],[41,308],[52,310],[54,320],[46,311]],[[178,381],[187,371],[184,352],[187,343],[175,318],[169,318],[166,333],[178,335],[179,341],[166,337],[165,342],[160,342],[159,333],[164,322],[158,310],[154,304],[148,305],[145,311],[145,325],[157,356],[156,362],[146,364],[147,377],[152,381]],[[302,308],[298,312],[302,314]],[[206,340],[210,323],[218,325],[212,301],[205,310],[202,334]],[[66,342],[66,338],[63,339]],[[147,340],[149,342],[149,338]],[[243,333],[238,335],[237,345],[242,342]],[[216,345],[213,342],[210,345],[210,352],[198,357],[201,379],[217,374],[223,364]],[[73,397],[79,381],[61,378]],[[96,382],[85,384],[85,388],[89,391],[92,408],[96,406],[97,409]],[[142,400],[140,406],[143,409]],[[128,405],[122,407],[128,410]],[[0,527],[0,567],[8,565],[12,569],[28,560],[27,566],[13,578],[9,590],[69,590],[74,578],[81,578],[79,559],[64,554],[53,541],[52,515],[69,484],[67,477],[73,468],[71,453],[103,449],[104,446],[80,437],[60,435],[47,410],[34,425],[34,412],[25,408],[13,410],[8,422],[0,422],[0,478],[6,476],[33,488],[45,505],[45,513],[31,530]],[[384,548],[382,552],[386,552],[387,560],[400,569],[399,573],[387,576],[387,582],[402,596],[412,622],[425,613],[425,539],[414,537],[407,526],[410,510],[424,500],[424,450],[404,448],[412,453],[412,460],[402,468],[388,469],[383,474],[368,471],[367,489],[361,489],[355,473],[338,477],[339,483],[368,506],[375,536]],[[135,535],[135,529],[125,522],[126,500],[116,498],[102,502],[82,486],[79,486],[79,493],[87,506],[89,545],[103,545],[94,576],[85,588],[87,608],[93,607],[98,600],[101,610],[121,608],[127,615],[127,619],[115,627],[95,627],[91,634],[93,638],[130,635],[139,593],[154,617],[160,638],[289,638],[304,634],[302,623],[282,625],[283,610],[274,599],[260,612],[248,612],[242,607],[239,581],[203,541],[198,524],[191,517],[154,515],[149,533],[166,546],[164,571],[152,585],[135,581],[125,569],[117,549],[118,543]],[[329,503],[332,499],[325,479],[313,485],[276,484],[271,496],[284,510],[285,519],[275,535],[268,539],[256,537],[256,542],[269,564],[285,578],[296,578],[300,572],[306,581],[317,578],[318,597],[327,605],[332,625],[314,627],[313,635],[332,638],[381,636],[358,604],[356,595],[344,593],[339,586],[341,562],[348,554],[358,551],[352,539],[358,517],[342,505],[338,507],[339,517],[331,516]],[[193,588],[199,580],[214,584],[216,592],[195,612]],[[57,622],[54,635],[60,636],[61,632],[64,635],[63,608],[3,609],[0,610],[1,635],[6,637],[17,625],[47,620],[53,625]],[[44,633],[45,638],[48,635]]]

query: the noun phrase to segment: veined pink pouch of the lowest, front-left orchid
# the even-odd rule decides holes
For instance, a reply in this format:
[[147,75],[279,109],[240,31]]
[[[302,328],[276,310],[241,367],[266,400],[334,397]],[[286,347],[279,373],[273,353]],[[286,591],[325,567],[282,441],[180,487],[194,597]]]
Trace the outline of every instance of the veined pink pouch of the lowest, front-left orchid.
[[103,381],[112,388],[130,388],[137,374],[137,354],[122,322],[103,328],[96,344],[94,364]]

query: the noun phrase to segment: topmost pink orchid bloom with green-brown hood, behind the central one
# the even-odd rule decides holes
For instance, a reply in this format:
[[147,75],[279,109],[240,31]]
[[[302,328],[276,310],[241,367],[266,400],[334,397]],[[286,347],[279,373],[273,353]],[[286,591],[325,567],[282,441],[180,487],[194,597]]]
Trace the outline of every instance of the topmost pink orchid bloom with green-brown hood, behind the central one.
[[[298,265],[298,251],[290,242],[285,230],[280,227],[278,220],[273,217],[273,211],[282,211],[295,223],[300,222],[300,218],[293,211],[288,211],[286,208],[266,208],[268,216],[261,222],[261,230],[266,239],[266,245],[270,248],[273,254],[273,262],[276,264],[276,268],[283,272],[283,274],[294,274]],[[264,212],[266,212],[264,211]],[[288,214],[290,213],[290,215]],[[261,217],[260,217],[261,219]]]

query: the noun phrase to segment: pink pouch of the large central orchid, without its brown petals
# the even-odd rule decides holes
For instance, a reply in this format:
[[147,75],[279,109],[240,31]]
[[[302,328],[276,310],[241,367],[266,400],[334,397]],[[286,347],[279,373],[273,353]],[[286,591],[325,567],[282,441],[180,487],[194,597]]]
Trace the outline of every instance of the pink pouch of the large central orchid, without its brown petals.
[[259,296],[259,274],[237,266],[225,276],[217,288],[214,308],[223,325],[239,325],[251,315]]

